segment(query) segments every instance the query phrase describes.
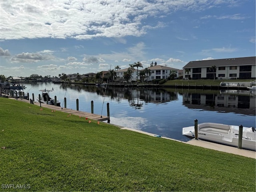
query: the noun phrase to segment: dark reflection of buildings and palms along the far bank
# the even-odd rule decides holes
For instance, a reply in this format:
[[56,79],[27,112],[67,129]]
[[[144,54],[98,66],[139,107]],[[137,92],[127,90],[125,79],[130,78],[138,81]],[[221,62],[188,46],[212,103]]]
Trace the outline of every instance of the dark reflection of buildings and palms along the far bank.
[[68,88],[82,92],[96,92],[100,96],[108,96],[120,103],[128,101],[135,109],[141,109],[147,103],[166,103],[178,100],[178,94],[183,96],[183,105],[193,109],[203,109],[220,112],[237,112],[255,115],[256,94],[247,90],[177,90],[164,88],[104,88],[78,84],[60,84],[64,90]]

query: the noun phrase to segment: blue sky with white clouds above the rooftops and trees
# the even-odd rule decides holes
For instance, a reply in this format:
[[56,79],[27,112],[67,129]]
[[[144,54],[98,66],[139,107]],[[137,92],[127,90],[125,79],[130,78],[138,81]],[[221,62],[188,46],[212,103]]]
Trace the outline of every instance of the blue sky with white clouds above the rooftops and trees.
[[255,0],[0,0],[0,74],[255,56]]

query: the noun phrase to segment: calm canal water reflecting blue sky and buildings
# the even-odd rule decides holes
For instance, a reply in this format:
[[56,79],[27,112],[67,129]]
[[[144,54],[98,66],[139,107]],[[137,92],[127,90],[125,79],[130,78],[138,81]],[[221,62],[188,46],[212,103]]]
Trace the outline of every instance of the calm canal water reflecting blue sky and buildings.
[[52,89],[50,97],[57,96],[64,107],[107,116],[110,104],[110,123],[188,141],[182,136],[182,127],[198,123],[216,122],[251,127],[256,124],[255,92],[216,90],[176,90],[156,88],[101,88],[75,84],[34,83],[24,84],[30,96],[41,94],[41,89]]

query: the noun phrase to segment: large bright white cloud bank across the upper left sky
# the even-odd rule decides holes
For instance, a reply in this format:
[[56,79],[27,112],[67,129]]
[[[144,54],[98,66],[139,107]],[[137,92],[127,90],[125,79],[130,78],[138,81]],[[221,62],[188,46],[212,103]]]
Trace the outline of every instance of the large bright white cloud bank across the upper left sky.
[[[148,29],[166,24],[148,18],[163,18],[177,10],[200,11],[232,1],[0,1],[2,40],[23,38],[120,38],[142,36]],[[222,16],[224,18],[224,16]],[[234,19],[242,16],[234,15]]]

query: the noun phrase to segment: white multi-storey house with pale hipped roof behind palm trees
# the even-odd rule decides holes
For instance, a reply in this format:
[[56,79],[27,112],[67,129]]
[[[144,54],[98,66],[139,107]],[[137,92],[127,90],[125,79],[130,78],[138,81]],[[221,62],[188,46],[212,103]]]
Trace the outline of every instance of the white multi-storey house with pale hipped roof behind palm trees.
[[178,77],[178,69],[176,68],[171,68],[167,66],[162,66],[162,65],[156,65],[149,67],[151,71],[151,76],[148,77],[148,80],[153,80],[153,79],[167,79],[170,76],[170,72],[172,70],[176,71],[177,77]]

